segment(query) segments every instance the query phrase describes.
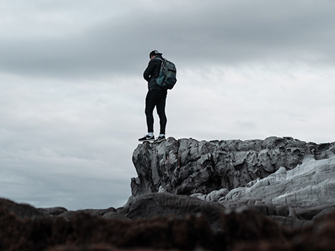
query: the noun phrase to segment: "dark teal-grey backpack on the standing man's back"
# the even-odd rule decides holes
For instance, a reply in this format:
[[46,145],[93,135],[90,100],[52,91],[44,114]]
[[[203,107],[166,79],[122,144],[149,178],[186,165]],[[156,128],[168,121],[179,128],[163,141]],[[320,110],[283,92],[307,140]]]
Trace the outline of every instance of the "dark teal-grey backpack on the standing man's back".
[[160,59],[162,61],[161,70],[156,79],[158,86],[161,86],[163,89],[168,90],[172,89],[174,84],[177,82],[177,69],[174,63],[168,61],[167,59]]

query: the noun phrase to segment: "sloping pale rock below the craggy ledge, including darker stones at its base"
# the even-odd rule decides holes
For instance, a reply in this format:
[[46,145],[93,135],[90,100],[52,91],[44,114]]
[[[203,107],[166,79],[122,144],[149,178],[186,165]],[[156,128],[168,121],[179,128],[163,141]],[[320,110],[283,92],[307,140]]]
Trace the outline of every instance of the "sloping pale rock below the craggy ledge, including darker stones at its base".
[[219,199],[225,208],[249,206],[282,222],[300,227],[326,212],[335,212],[335,157],[304,158],[301,165],[236,188]]

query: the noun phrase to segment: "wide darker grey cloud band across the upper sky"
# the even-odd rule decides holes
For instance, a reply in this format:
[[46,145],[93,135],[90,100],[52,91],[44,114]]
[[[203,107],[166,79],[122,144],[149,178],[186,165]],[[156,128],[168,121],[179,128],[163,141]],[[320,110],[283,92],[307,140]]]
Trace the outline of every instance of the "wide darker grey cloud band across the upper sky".
[[[99,10],[111,4],[105,1]],[[290,6],[282,1],[184,1],[177,9],[145,7],[77,24],[78,31],[73,26],[74,32],[64,36],[5,40],[0,43],[1,70],[59,77],[135,75],[154,48],[181,66],[267,60],[334,63],[335,3],[329,1],[293,1]]]

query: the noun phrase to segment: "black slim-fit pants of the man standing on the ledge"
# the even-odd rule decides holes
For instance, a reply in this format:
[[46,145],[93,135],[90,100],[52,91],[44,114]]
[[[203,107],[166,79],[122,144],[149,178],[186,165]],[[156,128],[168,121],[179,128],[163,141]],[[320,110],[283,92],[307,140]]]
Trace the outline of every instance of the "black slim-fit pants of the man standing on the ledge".
[[156,106],[159,116],[159,124],[161,126],[160,134],[165,135],[165,127],[167,123],[165,115],[165,100],[168,91],[165,90],[149,90],[145,98],[145,116],[147,116],[148,132],[154,132],[154,108]]

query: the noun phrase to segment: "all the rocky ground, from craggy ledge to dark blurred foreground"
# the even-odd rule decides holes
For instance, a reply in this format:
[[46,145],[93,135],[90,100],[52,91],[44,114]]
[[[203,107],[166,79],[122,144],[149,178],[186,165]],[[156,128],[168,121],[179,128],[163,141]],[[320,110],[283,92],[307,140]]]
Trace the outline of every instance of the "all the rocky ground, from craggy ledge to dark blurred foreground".
[[0,199],[0,250],[335,250],[334,153],[291,137],[140,144],[121,208]]

